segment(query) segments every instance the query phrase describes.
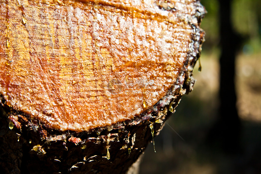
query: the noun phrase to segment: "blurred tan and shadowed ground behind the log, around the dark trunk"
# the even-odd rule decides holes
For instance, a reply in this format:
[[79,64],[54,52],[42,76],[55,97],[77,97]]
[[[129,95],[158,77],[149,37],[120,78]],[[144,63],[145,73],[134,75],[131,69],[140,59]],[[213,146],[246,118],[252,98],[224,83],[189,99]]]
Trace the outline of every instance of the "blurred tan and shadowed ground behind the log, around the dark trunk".
[[[246,45],[247,46],[247,45]],[[247,49],[247,48],[243,48]],[[249,49],[249,48],[248,48]],[[261,173],[261,53],[243,50],[236,61],[238,112],[242,120],[241,151],[227,155],[205,138],[216,119],[219,52],[202,53],[202,72],[194,69],[194,90],[145,151],[140,174]],[[171,128],[185,140],[183,141]]]

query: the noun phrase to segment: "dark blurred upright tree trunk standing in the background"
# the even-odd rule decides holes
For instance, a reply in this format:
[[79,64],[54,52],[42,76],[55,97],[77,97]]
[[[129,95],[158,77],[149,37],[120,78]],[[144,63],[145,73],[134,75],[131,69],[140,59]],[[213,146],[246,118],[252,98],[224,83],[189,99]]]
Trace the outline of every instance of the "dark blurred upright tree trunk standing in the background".
[[219,118],[209,138],[228,153],[238,152],[241,123],[236,108],[235,60],[241,38],[231,23],[232,1],[219,0],[220,84]]

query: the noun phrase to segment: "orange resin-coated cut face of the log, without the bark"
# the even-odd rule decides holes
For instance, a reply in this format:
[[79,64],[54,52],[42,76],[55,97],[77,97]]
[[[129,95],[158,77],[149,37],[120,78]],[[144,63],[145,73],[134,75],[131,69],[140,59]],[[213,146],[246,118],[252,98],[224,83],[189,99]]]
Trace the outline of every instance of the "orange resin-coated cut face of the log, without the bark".
[[61,131],[112,125],[156,104],[185,67],[198,25],[194,0],[0,3],[0,94]]

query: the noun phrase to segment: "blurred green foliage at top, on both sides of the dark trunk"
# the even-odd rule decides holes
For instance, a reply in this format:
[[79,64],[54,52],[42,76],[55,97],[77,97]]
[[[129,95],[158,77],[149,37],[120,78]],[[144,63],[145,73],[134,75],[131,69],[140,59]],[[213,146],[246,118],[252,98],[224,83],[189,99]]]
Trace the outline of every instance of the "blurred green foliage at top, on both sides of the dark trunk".
[[[208,13],[202,20],[201,27],[206,32],[203,51],[212,51],[219,44],[219,0],[201,0]],[[231,22],[233,29],[244,38],[254,51],[261,46],[261,1],[232,1]]]

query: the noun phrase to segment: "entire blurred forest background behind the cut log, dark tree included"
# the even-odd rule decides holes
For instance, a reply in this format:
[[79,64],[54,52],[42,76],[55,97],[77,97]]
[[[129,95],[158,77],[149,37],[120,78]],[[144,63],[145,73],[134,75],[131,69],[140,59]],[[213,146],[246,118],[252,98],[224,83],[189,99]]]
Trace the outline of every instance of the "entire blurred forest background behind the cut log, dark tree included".
[[[229,2],[231,11],[224,5]],[[261,1],[201,3],[208,11],[201,25],[206,32],[202,71],[197,63],[194,90],[154,137],[156,153],[152,143],[147,147],[140,174],[261,173]],[[227,69],[220,66],[222,56],[225,62],[231,60]],[[233,78],[230,74],[234,97],[229,82],[227,87],[220,82]]]

